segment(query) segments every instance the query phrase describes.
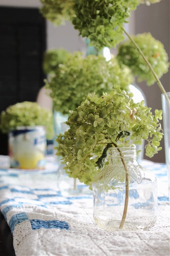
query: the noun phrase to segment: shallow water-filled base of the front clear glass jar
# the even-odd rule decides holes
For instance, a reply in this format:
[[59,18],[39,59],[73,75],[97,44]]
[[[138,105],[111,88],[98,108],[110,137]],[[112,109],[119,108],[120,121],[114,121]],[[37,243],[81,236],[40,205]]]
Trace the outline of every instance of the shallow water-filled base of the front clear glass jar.
[[[133,218],[131,220],[130,218],[126,218],[125,224],[123,228],[121,229],[122,231],[136,231],[136,230],[149,230],[151,227],[154,226],[156,222],[156,216],[143,216],[143,217],[138,217],[138,218]],[[95,223],[102,229],[108,230],[108,231],[115,231],[115,230],[120,230],[120,220],[103,220],[96,218],[94,216]]]

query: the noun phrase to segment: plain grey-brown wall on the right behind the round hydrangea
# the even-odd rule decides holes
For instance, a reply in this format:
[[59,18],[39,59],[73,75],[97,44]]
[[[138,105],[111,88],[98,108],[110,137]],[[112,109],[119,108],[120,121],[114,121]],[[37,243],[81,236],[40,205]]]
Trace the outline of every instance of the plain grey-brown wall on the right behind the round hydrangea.
[[[169,56],[170,51],[170,1],[162,0],[160,3],[150,6],[139,5],[134,15],[135,34],[150,32],[154,38],[162,42]],[[170,60],[169,60],[170,61]],[[164,74],[160,79],[166,92],[170,91],[170,72]],[[162,109],[161,90],[155,83],[147,86],[145,82],[137,83],[146,96],[147,105],[155,109]],[[163,122],[162,127],[163,127]],[[165,162],[164,141],[162,139],[162,150],[152,157],[152,161]],[[145,156],[146,159],[149,159]]]

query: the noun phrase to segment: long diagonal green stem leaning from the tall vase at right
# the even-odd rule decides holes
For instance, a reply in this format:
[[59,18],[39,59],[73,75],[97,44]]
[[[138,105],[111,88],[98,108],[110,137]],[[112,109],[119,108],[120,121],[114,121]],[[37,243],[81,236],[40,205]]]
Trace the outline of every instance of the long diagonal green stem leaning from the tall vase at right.
[[[120,25],[119,25],[120,26]],[[122,30],[125,32],[125,34],[128,36],[128,38],[132,41],[132,43],[135,45],[135,47],[137,48],[137,50],[139,51],[139,53],[141,54],[141,56],[143,57],[143,59],[145,60],[146,64],[148,65],[150,71],[152,72],[152,74],[154,75],[156,82],[158,83],[158,86],[160,88],[160,90],[162,91],[162,93],[165,94],[165,97],[167,99],[167,101],[169,102],[169,106],[170,106],[170,100],[167,96],[167,93],[160,81],[160,79],[158,78],[158,76],[156,75],[154,69],[152,68],[152,66],[150,65],[149,61],[146,59],[145,55],[143,54],[142,50],[139,48],[139,46],[137,45],[137,43],[135,42],[135,40],[126,32],[126,30],[124,30],[124,28],[122,26],[120,26],[120,28],[122,28]]]

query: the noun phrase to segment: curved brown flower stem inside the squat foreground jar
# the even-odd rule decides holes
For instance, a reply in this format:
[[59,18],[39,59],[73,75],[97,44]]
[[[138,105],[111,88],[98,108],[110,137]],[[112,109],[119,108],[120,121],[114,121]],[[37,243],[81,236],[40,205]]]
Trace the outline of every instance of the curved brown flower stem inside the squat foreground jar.
[[122,220],[120,222],[120,226],[119,226],[119,229],[122,229],[123,226],[124,226],[124,223],[125,223],[125,220],[126,220],[126,215],[127,215],[127,210],[128,210],[128,201],[129,201],[129,175],[128,175],[128,169],[127,169],[127,166],[126,166],[126,163],[124,161],[124,158],[123,158],[123,155],[122,155],[122,152],[120,151],[120,149],[118,148],[118,146],[113,143],[113,145],[117,148],[119,154],[120,154],[120,157],[121,157],[121,161],[122,161],[122,164],[125,168],[125,171],[126,171],[126,176],[125,176],[125,182],[126,182],[126,185],[125,185],[125,203],[124,203],[124,210],[123,210],[123,215],[122,215]]

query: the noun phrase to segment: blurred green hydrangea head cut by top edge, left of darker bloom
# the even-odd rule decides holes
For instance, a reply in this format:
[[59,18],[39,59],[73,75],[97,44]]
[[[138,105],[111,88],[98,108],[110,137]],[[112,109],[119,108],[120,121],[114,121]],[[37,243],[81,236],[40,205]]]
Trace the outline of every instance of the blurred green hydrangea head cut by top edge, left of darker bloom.
[[42,15],[53,22],[55,25],[61,25],[65,20],[70,20],[74,16],[73,0],[40,0]]

